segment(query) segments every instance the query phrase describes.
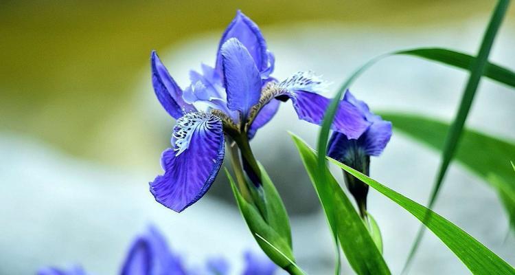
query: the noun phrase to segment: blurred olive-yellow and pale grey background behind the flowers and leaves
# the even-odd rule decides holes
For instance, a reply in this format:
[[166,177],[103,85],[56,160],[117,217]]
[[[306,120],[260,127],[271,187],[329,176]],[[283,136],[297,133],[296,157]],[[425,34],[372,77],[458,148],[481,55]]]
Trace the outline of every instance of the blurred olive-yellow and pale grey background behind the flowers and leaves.
[[[176,214],[156,203],[148,181],[161,173],[174,121],[150,82],[157,50],[179,85],[190,69],[214,64],[218,39],[241,9],[276,56],[279,79],[312,69],[336,91],[370,58],[417,46],[474,54],[494,1],[0,1],[0,274],[81,263],[116,274],[135,234],[156,224],[190,265],[258,250],[220,174],[207,195]],[[490,60],[515,68],[515,8]],[[374,110],[450,120],[467,74],[409,57],[372,67],[352,87]],[[331,96],[328,94],[326,96]],[[467,125],[515,140],[515,93],[483,80]],[[317,197],[286,131],[314,144],[317,126],[291,104],[252,146],[284,198],[294,250],[310,274],[330,274],[333,248]],[[480,156],[479,156],[480,157]],[[512,157],[513,158],[513,157]],[[371,176],[425,203],[439,154],[394,131]],[[334,175],[339,175],[335,170]],[[451,166],[435,210],[515,264],[515,240],[496,193]],[[400,273],[418,221],[376,192],[369,195]],[[412,274],[468,274],[431,233]],[[345,272],[350,268],[345,264]]]

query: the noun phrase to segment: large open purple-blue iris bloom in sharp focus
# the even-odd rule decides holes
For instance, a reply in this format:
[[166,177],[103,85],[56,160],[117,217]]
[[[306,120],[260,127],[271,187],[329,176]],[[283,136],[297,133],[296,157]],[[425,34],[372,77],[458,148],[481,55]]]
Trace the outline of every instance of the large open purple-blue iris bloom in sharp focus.
[[[192,83],[184,90],[152,52],[155,94],[176,119],[172,148],[161,156],[165,172],[150,182],[159,203],[181,212],[203,197],[218,175],[225,142],[238,146],[245,172],[259,187],[260,168],[249,140],[273,118],[279,100],[291,100],[299,119],[321,124],[330,103],[319,95],[325,83],[312,72],[279,82],[271,77],[274,65],[258,25],[240,11],[222,35],[215,67],[202,65],[202,73],[190,72]],[[332,129],[356,139],[369,125],[363,113],[344,100]]]

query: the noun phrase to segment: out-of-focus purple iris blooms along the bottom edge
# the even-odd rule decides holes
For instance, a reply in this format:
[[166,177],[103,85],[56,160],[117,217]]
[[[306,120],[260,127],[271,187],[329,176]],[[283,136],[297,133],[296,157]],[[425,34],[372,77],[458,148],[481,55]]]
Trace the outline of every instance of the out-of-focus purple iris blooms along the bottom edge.
[[[264,254],[244,254],[242,275],[273,275],[275,265]],[[222,258],[209,259],[205,267],[187,269],[181,256],[170,250],[165,238],[155,228],[148,228],[146,234],[137,236],[130,246],[122,265],[121,275],[228,275],[229,263]],[[45,267],[38,275],[87,275],[81,267],[60,270]]]

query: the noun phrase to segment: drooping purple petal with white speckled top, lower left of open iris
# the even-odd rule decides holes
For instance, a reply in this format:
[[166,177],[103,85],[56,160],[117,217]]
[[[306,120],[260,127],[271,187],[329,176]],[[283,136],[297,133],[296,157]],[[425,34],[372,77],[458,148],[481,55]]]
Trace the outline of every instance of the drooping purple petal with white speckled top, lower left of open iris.
[[201,199],[213,183],[224,158],[222,121],[211,113],[187,113],[177,120],[174,148],[163,152],[164,175],[150,182],[156,201],[181,212]]

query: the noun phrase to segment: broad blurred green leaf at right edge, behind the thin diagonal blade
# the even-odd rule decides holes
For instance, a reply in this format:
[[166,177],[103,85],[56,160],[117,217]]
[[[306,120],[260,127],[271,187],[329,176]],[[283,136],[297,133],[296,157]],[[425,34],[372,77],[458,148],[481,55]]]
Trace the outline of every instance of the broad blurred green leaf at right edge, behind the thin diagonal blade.
[[[422,115],[406,113],[380,113],[402,131],[418,142],[441,151],[449,124]],[[464,129],[455,159],[472,173],[494,187],[510,216],[515,228],[515,174],[510,167],[510,157],[515,155],[515,143],[501,140],[470,129]]]

